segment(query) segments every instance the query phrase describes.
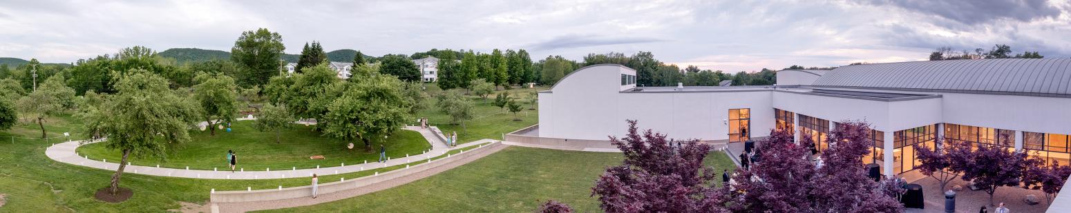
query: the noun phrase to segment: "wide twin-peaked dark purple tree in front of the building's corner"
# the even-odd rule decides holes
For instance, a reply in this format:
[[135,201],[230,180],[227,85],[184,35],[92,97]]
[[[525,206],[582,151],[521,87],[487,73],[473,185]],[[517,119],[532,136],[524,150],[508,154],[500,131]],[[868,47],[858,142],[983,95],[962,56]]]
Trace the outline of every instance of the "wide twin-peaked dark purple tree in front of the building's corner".
[[[842,122],[829,134],[825,166],[808,161],[811,137],[799,144],[785,131],[773,131],[758,142],[761,161],[750,170],[737,170],[735,185],[723,187],[719,199],[731,212],[901,212],[891,183],[878,184],[866,177],[862,156],[873,140],[870,126]],[[881,187],[887,186],[887,187]]]

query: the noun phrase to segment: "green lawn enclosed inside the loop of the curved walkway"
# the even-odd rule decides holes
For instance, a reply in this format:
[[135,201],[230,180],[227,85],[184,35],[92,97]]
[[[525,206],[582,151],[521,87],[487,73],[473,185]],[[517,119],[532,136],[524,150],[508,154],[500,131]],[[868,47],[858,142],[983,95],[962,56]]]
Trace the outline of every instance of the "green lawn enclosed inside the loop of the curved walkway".
[[[379,159],[379,143],[374,143],[372,151],[365,151],[363,143],[355,143],[353,150],[346,148],[347,141],[320,136],[313,132],[312,126],[296,125],[293,128],[283,133],[281,143],[275,143],[273,133],[261,133],[253,127],[253,121],[238,121],[231,126],[232,132],[216,132],[215,136],[209,132],[194,131],[191,134],[191,142],[183,144],[172,153],[168,153],[166,159],[157,157],[136,157],[132,159],[134,165],[155,166],[168,168],[185,168],[212,170],[218,167],[221,170],[229,169],[227,166],[227,150],[238,153],[238,167],[246,170],[273,170],[300,168],[316,168],[340,166],[342,163],[353,165],[364,163],[364,161],[375,162]],[[406,154],[421,154],[425,150],[432,149],[432,144],[418,132],[398,131],[381,142],[387,147],[387,155],[392,158],[404,157]],[[92,143],[78,148],[79,155],[89,155],[90,158],[100,161],[107,158],[108,162],[119,162],[122,156],[119,151],[109,150],[104,143]],[[323,155],[325,159],[310,159],[313,155]]]

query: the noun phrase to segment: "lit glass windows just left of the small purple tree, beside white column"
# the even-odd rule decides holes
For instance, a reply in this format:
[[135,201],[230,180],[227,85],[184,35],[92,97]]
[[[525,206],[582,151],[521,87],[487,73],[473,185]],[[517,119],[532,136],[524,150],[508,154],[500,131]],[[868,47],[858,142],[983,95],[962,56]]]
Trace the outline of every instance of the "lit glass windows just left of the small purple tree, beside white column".
[[915,144],[921,143],[923,147],[934,149],[934,139],[937,137],[937,125],[930,124],[903,131],[896,131],[892,135],[892,166],[893,171],[903,173],[914,170],[916,166],[922,164],[915,157]]

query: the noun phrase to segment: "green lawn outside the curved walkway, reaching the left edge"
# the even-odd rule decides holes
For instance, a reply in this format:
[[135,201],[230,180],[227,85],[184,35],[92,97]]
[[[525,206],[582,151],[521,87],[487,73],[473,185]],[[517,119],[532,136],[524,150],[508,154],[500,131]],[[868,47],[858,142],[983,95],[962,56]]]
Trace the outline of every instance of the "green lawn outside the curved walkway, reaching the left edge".
[[[76,130],[77,120],[63,116],[49,120],[49,137],[61,137],[63,132]],[[55,133],[54,133],[55,132]],[[14,141],[9,136],[17,136]],[[123,173],[120,186],[134,191],[134,197],[120,203],[105,203],[93,198],[99,188],[108,186],[114,170],[93,169],[48,159],[45,148],[56,139],[27,139],[40,137],[36,125],[18,124],[13,130],[0,131],[0,194],[7,203],[0,212],[164,212],[178,209],[179,201],[205,203],[209,192],[276,188],[307,185],[307,178],[270,180],[201,180]],[[79,139],[74,137],[72,139]],[[474,147],[472,147],[474,148]],[[451,153],[456,154],[457,151]],[[441,157],[441,156],[439,156]],[[425,163],[414,162],[409,165]],[[356,179],[405,168],[365,170],[346,174],[323,176],[322,182],[341,178]]]

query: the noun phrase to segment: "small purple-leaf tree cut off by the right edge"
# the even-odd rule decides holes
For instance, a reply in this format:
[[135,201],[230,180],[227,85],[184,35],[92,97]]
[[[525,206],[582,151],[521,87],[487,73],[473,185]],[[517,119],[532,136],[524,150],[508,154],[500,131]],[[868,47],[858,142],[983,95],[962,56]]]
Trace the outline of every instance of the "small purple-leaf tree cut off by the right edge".
[[[1032,159],[1043,162],[1043,159],[1037,156],[1034,156]],[[1071,176],[1071,167],[1062,166],[1054,159],[1049,166],[1027,168],[1023,177],[1023,187],[1031,185],[1041,186],[1041,192],[1045,193],[1045,200],[1052,202],[1056,194],[1060,192],[1060,188],[1064,188],[1064,183],[1068,181],[1068,176]]]

